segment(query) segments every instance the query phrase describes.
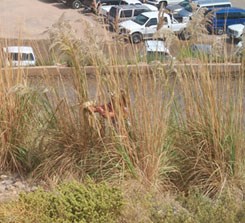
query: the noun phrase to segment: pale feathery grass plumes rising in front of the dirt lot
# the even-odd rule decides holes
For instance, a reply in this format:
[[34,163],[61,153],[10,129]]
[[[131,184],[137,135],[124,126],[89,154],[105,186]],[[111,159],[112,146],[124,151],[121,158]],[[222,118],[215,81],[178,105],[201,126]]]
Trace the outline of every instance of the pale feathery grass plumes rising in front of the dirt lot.
[[[59,20],[47,30],[51,46],[56,55],[67,60],[70,66],[76,69],[83,66],[106,64],[107,59],[103,56],[103,41],[96,35],[90,25],[81,20],[85,25],[83,39],[78,39],[75,30],[72,29],[69,21],[65,20],[64,14]],[[64,60],[64,59],[63,59]]]

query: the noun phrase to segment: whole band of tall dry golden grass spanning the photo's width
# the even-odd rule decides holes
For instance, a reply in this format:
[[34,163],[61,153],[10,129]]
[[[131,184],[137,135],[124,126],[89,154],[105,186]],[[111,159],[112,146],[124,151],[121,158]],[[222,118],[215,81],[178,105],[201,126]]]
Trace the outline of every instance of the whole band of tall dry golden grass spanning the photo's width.
[[[72,66],[74,98],[66,80],[61,83],[62,94],[52,89],[42,101],[34,100],[32,91],[14,91],[10,98],[2,84],[6,127],[1,135],[9,131],[11,136],[7,143],[2,140],[2,168],[26,169],[18,154],[26,159],[26,150],[33,148],[35,164],[25,164],[34,177],[55,182],[89,175],[98,181],[136,179],[158,189],[188,191],[194,186],[211,195],[228,185],[243,185],[242,77],[232,79],[229,72],[212,76],[202,57],[201,68],[190,66],[188,73],[176,70],[173,75],[161,64],[142,71],[136,63],[130,70],[128,58],[137,62],[141,46],[130,48],[129,54],[121,50],[121,43],[103,42],[89,28],[86,38],[79,40],[62,18],[49,32],[54,59],[65,59]],[[92,94],[87,65],[94,66]],[[21,78],[9,88],[25,84],[23,76],[17,77]],[[126,118],[120,107],[121,89],[126,92]],[[109,92],[116,98],[116,124],[82,107],[90,100],[108,103]]]

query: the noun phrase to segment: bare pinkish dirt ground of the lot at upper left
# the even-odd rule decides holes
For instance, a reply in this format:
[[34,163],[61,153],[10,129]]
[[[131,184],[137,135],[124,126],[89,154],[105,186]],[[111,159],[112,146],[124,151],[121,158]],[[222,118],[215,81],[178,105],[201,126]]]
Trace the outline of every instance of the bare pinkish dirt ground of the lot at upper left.
[[[245,8],[245,0],[232,0],[234,6]],[[21,39],[45,39],[45,31],[64,13],[77,35],[86,33],[86,23],[94,31],[103,34],[102,25],[93,14],[84,14],[82,9],[67,8],[56,0],[1,0],[0,37]]]

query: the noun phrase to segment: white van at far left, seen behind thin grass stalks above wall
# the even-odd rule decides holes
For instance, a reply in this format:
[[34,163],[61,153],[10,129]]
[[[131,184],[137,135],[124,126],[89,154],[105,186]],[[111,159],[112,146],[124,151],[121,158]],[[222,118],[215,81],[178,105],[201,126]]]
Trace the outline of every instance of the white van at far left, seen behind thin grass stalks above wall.
[[32,47],[8,46],[3,48],[4,59],[9,66],[35,66],[36,57]]

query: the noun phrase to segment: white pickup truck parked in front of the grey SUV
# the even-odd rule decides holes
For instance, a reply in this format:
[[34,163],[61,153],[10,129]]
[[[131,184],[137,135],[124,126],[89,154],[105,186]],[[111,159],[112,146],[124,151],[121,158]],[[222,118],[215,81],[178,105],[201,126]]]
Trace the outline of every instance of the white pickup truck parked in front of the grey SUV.
[[[164,24],[160,29],[170,29],[182,39],[187,23],[180,23],[170,14],[164,13]],[[132,43],[139,43],[145,39],[151,39],[157,31],[159,12],[144,12],[136,16],[133,20],[119,23],[119,34],[126,35]],[[188,37],[189,38],[189,37]]]

